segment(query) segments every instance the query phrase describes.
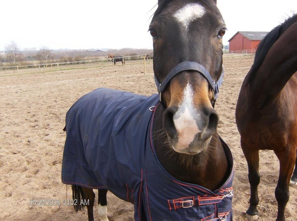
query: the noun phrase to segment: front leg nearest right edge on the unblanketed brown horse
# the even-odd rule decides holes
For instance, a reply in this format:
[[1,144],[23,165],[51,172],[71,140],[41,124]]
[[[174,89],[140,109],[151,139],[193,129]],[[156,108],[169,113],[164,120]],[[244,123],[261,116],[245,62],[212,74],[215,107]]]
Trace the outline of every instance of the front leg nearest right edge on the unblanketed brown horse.
[[[286,147],[286,149],[289,147]],[[285,148],[283,149],[285,150]],[[290,192],[289,192],[289,183],[290,178],[295,166],[295,149],[284,152],[275,153],[279,159],[279,177],[278,185],[275,189],[275,198],[278,201],[278,216],[277,221],[285,221],[285,208],[286,204],[289,201]]]

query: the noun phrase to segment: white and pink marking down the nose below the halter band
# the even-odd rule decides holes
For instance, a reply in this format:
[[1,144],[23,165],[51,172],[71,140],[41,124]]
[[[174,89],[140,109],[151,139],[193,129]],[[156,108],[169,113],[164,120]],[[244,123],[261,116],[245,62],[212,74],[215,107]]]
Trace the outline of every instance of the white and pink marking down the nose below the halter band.
[[188,148],[189,144],[194,140],[195,135],[201,132],[196,124],[195,118],[199,117],[199,113],[193,104],[193,89],[189,83],[183,91],[183,101],[179,110],[174,114],[173,122],[178,132],[177,147],[181,149]]

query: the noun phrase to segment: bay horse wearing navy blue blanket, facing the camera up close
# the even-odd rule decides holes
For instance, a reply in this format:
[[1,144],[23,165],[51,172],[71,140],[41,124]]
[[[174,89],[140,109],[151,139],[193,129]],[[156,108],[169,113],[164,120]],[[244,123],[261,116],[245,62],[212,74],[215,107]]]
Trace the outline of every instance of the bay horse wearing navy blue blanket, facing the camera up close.
[[226,25],[215,0],[159,0],[149,32],[158,94],[105,88],[80,98],[66,114],[62,182],[75,210],[98,189],[134,205],[135,220],[233,220],[233,159],[217,134]]

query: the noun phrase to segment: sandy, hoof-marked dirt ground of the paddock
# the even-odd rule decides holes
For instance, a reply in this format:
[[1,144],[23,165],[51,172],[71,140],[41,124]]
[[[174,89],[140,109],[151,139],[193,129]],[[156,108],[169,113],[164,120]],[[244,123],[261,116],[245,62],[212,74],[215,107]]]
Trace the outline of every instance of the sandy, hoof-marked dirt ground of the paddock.
[[[225,82],[216,109],[218,132],[230,146],[235,161],[233,211],[245,220],[248,208],[248,169],[240,148],[235,107],[241,83],[252,65],[252,56],[224,58]],[[45,74],[0,76],[0,219],[87,220],[87,211],[72,206],[30,206],[30,199],[71,199],[71,187],[61,183],[65,114],[84,94],[109,87],[136,94],[156,93],[153,68],[143,65],[54,70]],[[278,159],[272,151],[260,152],[259,220],[275,220]],[[95,192],[96,193],[96,192]],[[287,220],[296,220],[297,188],[290,187]],[[96,196],[97,197],[97,196]],[[97,200],[97,199],[96,199]],[[97,206],[94,217],[97,217]],[[133,220],[133,206],[108,193],[108,218]]]

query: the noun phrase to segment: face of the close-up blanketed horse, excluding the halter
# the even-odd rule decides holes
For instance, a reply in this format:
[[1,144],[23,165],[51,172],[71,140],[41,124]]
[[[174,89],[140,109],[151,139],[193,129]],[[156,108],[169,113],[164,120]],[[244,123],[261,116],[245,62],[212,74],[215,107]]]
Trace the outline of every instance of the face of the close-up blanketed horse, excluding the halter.
[[[162,82],[174,66],[190,61],[203,65],[217,81],[222,73],[225,30],[216,0],[159,0],[149,26],[157,79]],[[197,154],[206,150],[218,124],[207,80],[198,72],[183,71],[161,95],[166,104],[163,125],[174,151]]]

